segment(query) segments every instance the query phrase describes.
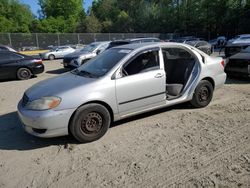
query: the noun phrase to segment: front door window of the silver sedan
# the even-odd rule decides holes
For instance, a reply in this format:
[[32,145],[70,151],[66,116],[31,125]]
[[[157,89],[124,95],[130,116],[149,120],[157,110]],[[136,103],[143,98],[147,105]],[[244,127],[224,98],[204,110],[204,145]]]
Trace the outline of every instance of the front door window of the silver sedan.
[[123,75],[134,75],[138,73],[157,70],[160,68],[158,51],[148,51],[138,55],[135,59],[125,64]]

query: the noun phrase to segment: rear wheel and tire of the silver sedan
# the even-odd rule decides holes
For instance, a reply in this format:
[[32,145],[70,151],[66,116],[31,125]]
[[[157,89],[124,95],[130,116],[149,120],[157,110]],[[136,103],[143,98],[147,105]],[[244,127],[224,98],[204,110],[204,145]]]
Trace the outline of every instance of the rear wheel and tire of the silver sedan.
[[191,104],[196,108],[207,106],[213,98],[213,85],[207,80],[202,80],[195,89]]

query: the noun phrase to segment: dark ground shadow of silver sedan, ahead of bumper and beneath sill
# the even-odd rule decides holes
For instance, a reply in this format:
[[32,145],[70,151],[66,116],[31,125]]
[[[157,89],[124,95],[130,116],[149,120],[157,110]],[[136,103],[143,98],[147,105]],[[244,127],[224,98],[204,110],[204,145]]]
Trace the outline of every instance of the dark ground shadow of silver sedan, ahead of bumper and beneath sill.
[[[192,106],[188,103],[179,104],[172,107],[167,107],[151,112],[147,112],[141,115],[137,115],[131,118],[117,121],[111,125],[110,128],[123,125],[128,122],[132,122],[139,119],[144,119],[156,114],[165,113],[174,109],[191,109]],[[63,136],[57,138],[38,138],[26,133],[18,118],[17,112],[11,112],[5,115],[0,115],[0,150],[33,150],[38,148],[44,148],[48,146],[62,146],[68,147],[68,144],[80,144],[72,136]]]

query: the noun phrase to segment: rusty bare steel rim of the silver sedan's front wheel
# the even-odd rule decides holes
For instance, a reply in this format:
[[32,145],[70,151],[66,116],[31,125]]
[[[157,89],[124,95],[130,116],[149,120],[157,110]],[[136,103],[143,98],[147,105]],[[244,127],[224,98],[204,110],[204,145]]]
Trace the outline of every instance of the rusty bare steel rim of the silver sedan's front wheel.
[[102,128],[103,120],[100,114],[91,112],[81,122],[81,130],[84,133],[97,133]]

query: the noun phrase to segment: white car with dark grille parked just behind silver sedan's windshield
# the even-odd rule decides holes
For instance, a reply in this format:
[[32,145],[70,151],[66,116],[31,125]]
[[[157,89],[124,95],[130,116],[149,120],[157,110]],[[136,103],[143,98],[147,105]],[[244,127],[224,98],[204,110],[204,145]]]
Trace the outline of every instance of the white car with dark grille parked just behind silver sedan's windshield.
[[83,63],[102,53],[109,46],[110,41],[93,42],[79,51],[68,54],[63,58],[64,68],[76,68]]

